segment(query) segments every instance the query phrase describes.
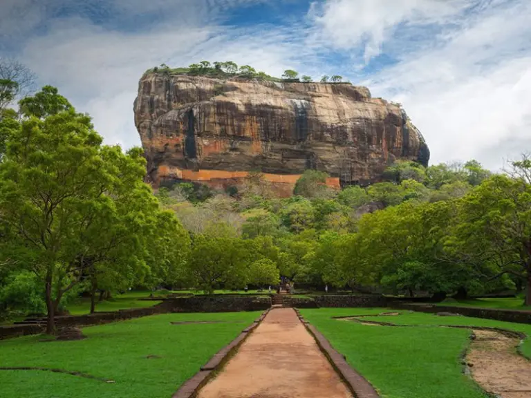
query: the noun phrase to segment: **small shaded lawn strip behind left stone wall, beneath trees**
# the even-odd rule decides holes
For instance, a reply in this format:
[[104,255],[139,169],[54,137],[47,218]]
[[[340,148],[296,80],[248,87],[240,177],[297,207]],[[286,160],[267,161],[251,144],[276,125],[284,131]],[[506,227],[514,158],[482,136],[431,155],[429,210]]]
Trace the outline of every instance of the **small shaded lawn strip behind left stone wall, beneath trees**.
[[[129,308],[143,308],[151,307],[160,303],[160,301],[141,301],[149,297],[151,292],[149,291],[133,291],[126,292],[124,294],[115,294],[111,300],[105,301],[96,301],[96,311],[97,312],[109,312],[109,311],[118,311],[118,310],[127,310]],[[153,292],[153,296],[156,296],[156,292]],[[91,299],[82,298],[75,303],[71,303],[66,306],[66,309],[72,315],[84,315],[91,312]]]

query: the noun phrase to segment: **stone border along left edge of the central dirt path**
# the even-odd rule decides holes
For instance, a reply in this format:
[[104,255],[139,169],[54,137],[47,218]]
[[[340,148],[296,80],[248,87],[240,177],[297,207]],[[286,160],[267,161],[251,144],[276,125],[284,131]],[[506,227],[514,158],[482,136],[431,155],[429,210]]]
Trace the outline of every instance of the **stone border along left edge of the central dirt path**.
[[243,344],[243,341],[245,341],[252,331],[258,327],[261,321],[263,321],[265,315],[267,315],[269,311],[270,308],[265,310],[250,326],[243,329],[236,339],[232,340],[228,345],[225,345],[225,347],[214,354],[214,357],[209,359],[205,365],[201,366],[199,372],[197,372],[191,379],[185,381],[171,398],[196,397],[198,391],[201,390],[201,388],[205,386],[205,384],[208,383],[210,379],[221,370],[221,368],[223,368],[225,363],[229,361]]

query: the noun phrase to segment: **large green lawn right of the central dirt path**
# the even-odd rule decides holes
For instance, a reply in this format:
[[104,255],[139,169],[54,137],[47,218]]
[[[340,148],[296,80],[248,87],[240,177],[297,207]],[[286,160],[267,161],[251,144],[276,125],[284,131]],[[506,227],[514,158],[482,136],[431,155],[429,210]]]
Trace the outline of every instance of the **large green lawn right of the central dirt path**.
[[[389,312],[374,308],[326,308],[301,310],[346,356],[385,398],[484,398],[476,383],[463,375],[460,355],[469,344],[469,330],[438,328],[437,325],[491,326],[531,335],[531,325],[491,321],[465,316],[436,316],[400,311],[398,316],[369,316],[367,321],[384,321],[415,328],[362,325],[332,316],[370,315]],[[531,356],[526,340],[523,353]]]

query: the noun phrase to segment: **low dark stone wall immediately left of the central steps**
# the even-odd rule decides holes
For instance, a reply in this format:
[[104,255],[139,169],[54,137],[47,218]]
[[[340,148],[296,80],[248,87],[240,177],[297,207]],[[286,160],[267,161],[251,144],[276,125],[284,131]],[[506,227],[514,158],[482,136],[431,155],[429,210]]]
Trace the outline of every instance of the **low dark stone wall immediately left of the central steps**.
[[263,311],[271,307],[269,296],[194,296],[167,299],[170,312],[238,312]]

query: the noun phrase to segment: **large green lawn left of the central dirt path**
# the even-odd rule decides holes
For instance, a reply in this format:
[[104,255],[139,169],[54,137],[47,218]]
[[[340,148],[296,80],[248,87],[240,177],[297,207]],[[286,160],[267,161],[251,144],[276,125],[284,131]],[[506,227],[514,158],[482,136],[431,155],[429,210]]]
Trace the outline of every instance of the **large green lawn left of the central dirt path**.
[[[0,370],[0,397],[169,398],[259,313],[162,314],[83,328],[88,339],[81,341],[39,342],[38,336],[0,341],[0,366],[61,368],[115,381]],[[147,359],[148,355],[160,358]]]

